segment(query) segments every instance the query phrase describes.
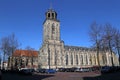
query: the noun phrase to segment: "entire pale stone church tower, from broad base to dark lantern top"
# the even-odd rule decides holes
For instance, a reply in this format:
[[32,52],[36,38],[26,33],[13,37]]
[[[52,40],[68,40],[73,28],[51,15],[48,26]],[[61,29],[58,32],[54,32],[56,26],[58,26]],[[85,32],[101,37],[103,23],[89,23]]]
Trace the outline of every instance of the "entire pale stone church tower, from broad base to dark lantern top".
[[59,68],[63,65],[64,44],[60,39],[60,21],[57,13],[49,9],[43,23],[43,44],[39,50],[39,67]]

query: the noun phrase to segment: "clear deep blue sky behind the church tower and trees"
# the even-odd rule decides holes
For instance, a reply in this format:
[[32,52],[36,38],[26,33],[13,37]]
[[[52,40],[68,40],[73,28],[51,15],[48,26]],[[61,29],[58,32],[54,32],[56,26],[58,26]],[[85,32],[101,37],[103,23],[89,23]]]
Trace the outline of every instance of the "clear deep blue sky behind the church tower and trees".
[[66,45],[90,47],[92,22],[111,23],[120,29],[120,0],[0,0],[0,39],[15,33],[20,48],[42,45],[45,12],[58,13],[61,40]]

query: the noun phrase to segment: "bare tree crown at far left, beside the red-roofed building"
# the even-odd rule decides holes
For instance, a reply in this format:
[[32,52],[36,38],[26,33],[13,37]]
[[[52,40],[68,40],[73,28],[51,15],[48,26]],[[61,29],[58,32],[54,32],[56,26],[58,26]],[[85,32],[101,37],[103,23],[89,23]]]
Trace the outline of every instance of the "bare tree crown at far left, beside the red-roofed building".
[[18,46],[19,44],[14,34],[9,35],[7,37],[3,37],[1,39],[1,50],[3,52],[3,61],[5,61],[8,56],[11,56],[11,54]]

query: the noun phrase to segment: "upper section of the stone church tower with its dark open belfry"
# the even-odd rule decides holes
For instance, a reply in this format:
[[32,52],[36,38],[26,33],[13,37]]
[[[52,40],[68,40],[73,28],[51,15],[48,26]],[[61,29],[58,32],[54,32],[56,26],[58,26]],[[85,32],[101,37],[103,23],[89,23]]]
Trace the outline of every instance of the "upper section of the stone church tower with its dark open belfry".
[[46,12],[46,19],[43,23],[43,42],[48,40],[60,40],[60,22],[57,13],[53,9]]

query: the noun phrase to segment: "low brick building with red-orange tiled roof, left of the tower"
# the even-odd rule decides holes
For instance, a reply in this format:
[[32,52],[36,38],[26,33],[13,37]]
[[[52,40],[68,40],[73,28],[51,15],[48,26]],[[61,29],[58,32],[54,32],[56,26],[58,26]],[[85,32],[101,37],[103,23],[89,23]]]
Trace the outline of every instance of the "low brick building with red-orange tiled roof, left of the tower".
[[38,52],[33,50],[15,50],[8,59],[8,68],[38,68]]

